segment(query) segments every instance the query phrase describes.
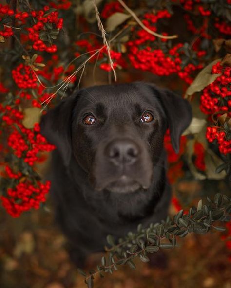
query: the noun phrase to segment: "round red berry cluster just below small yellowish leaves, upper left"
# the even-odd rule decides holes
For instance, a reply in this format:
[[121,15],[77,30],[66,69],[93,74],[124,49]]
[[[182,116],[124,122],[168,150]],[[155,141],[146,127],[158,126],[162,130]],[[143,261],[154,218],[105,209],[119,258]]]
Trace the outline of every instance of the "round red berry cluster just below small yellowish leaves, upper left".
[[28,65],[19,64],[12,70],[12,77],[19,88],[36,88],[37,78],[35,72]]

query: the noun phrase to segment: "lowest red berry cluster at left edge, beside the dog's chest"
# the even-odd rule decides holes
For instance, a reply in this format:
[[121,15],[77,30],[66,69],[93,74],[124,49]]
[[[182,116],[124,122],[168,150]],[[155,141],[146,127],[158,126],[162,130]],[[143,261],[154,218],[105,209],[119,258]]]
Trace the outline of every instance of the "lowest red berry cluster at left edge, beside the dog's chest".
[[13,217],[19,217],[22,212],[31,208],[39,209],[40,203],[45,202],[45,195],[49,192],[50,181],[42,184],[37,181],[19,183],[15,188],[8,188],[5,196],[1,196],[3,207]]

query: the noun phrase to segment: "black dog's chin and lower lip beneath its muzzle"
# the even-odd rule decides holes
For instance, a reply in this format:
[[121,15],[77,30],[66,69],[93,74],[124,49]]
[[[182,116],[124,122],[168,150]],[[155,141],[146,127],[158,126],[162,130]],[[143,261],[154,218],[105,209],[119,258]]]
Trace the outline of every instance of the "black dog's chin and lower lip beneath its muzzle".
[[105,190],[115,193],[131,193],[139,190],[140,188],[140,183],[136,182],[128,176],[123,175],[105,187]]

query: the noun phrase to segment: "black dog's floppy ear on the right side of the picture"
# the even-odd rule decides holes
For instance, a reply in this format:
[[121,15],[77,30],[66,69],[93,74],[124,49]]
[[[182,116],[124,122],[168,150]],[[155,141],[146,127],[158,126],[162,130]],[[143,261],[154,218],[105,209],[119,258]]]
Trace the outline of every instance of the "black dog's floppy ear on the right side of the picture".
[[170,90],[159,89],[150,85],[154,95],[159,99],[167,117],[173,148],[179,152],[180,136],[192,120],[190,103]]

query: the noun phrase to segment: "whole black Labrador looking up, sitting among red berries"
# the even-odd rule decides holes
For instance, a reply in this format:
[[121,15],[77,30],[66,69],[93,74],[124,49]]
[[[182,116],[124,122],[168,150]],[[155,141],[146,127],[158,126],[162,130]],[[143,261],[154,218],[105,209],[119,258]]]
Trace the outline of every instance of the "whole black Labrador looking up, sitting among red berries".
[[78,266],[137,225],[166,218],[171,191],[163,138],[173,148],[190,124],[190,104],[152,84],[82,89],[41,120],[42,134],[57,146],[51,193],[56,217]]

